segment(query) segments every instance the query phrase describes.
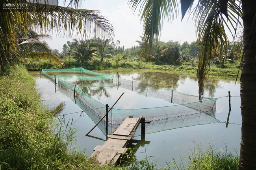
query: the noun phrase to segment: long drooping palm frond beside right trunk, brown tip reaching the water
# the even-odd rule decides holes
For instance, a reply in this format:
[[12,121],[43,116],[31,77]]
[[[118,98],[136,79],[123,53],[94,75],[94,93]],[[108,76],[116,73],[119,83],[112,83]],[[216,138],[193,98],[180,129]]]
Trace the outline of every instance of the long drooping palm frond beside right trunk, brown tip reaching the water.
[[[234,9],[237,5],[234,2],[228,2],[228,7]],[[218,49],[219,53],[227,53],[229,41],[224,28],[226,27],[230,31],[232,28],[233,30],[236,29],[232,25],[232,21],[234,22],[242,16],[240,11],[234,13],[235,11],[227,13],[229,21],[226,21],[221,13],[219,0],[199,0],[194,9],[194,20],[195,24],[197,24],[197,42],[200,44],[197,69],[200,100],[202,100],[204,94],[204,82],[207,78],[207,70],[210,67],[211,53],[215,49]],[[238,16],[238,18],[235,16]]]

